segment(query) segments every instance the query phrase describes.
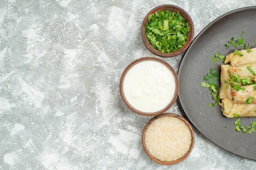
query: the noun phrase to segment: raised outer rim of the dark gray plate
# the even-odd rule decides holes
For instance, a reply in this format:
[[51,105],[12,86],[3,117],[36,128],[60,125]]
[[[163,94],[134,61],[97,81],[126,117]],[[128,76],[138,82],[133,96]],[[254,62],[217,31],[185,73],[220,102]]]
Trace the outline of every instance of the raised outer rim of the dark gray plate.
[[[211,25],[213,25],[215,22],[217,22],[217,21],[219,21],[219,20],[222,20],[222,18],[223,17],[226,17],[227,15],[231,15],[231,14],[233,14],[233,13],[237,13],[237,12],[239,12],[239,11],[243,11],[243,10],[245,10],[245,9],[250,9],[250,8],[252,8],[252,9],[256,9],[256,6],[250,6],[250,7],[243,7],[243,8],[239,8],[239,9],[235,9],[235,10],[233,10],[233,11],[229,11],[229,12],[227,12],[227,13],[225,13],[225,14],[223,14],[223,15],[221,15],[220,17],[218,17],[218,18],[216,18],[215,20],[213,20],[210,24],[208,24],[204,29],[202,29],[202,31],[200,31],[200,33],[195,37],[195,39],[193,39],[193,41],[192,41],[192,43],[191,43],[191,45],[189,46],[189,48],[186,50],[186,52],[185,52],[185,54],[184,54],[184,57],[182,58],[182,61],[181,61],[181,63],[180,63],[180,67],[183,65],[183,61],[184,61],[184,58],[186,58],[189,54],[188,54],[188,52],[189,52],[189,50],[190,50],[190,48],[192,48],[193,47],[193,45],[194,45],[194,43],[195,43],[195,41],[200,37],[200,35],[202,34],[202,33],[204,33],[204,31],[206,31],[207,30],[207,28],[209,28],[209,27],[211,27]],[[179,70],[178,70],[178,78],[180,79],[180,74],[179,74],[179,72],[180,72],[180,67],[179,67]],[[190,118],[190,115],[188,115],[185,111],[184,111],[184,109],[183,109],[183,107],[182,107],[182,105],[184,105],[184,104],[182,104],[182,102],[181,102],[181,100],[180,100],[180,95],[178,94],[178,101],[179,101],[179,103],[180,103],[180,106],[181,106],[181,108],[182,108],[182,111],[185,113],[185,115],[186,115],[186,117],[189,119],[189,122],[191,122],[191,124],[193,124],[193,126],[195,127],[195,129],[197,130],[197,131],[199,131],[198,130],[198,128],[195,126],[195,123],[193,122],[193,120]],[[199,131],[200,132],[200,131]],[[201,133],[201,132],[200,132]],[[206,139],[208,139],[211,143],[213,143],[213,144],[215,144],[215,142],[213,142],[212,140],[210,140],[208,137],[206,137],[203,133],[201,133]],[[219,146],[219,145],[217,145],[217,144],[215,144],[216,146],[218,146],[218,147],[220,147],[220,148],[222,148],[222,149],[224,149],[224,150],[227,150],[228,152],[230,152],[230,153],[233,153],[234,155],[238,155],[238,156],[240,156],[240,157],[244,157],[244,158],[246,158],[246,159],[251,159],[251,160],[254,160],[254,161],[256,161],[256,159],[252,159],[252,158],[248,158],[248,157],[246,157],[246,156],[242,156],[242,155],[239,155],[238,153],[234,153],[234,152],[232,152],[231,150],[229,150],[229,149],[227,149],[227,148],[223,148],[223,147],[221,147],[221,146]]]

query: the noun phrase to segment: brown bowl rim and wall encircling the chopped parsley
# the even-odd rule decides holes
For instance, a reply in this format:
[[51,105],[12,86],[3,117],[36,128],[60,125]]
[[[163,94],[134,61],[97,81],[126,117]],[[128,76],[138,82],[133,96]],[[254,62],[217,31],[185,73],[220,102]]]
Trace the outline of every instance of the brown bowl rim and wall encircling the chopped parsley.
[[[146,37],[146,23],[148,22],[148,17],[150,14],[154,13],[154,12],[158,12],[158,11],[162,11],[162,10],[169,10],[171,12],[175,12],[177,13],[177,11],[180,12],[180,15],[182,15],[182,17],[186,20],[186,22],[189,24],[190,26],[190,31],[188,34],[188,40],[186,41],[186,44],[184,46],[182,46],[181,48],[179,48],[177,51],[175,52],[169,52],[169,53],[162,53],[160,51],[158,51],[157,49],[155,49],[147,40]],[[150,52],[152,52],[153,54],[160,56],[160,57],[174,57],[178,54],[181,54],[183,51],[185,51],[189,45],[191,44],[192,40],[193,40],[193,36],[194,36],[194,24],[193,21],[191,19],[191,17],[189,16],[189,14],[182,8],[177,7],[175,5],[160,5],[158,7],[155,7],[154,9],[152,9],[151,11],[149,11],[149,13],[146,15],[146,17],[144,18],[143,22],[142,22],[142,26],[141,26],[141,37],[142,37],[142,41],[145,44],[146,48],[148,48],[148,50]]]

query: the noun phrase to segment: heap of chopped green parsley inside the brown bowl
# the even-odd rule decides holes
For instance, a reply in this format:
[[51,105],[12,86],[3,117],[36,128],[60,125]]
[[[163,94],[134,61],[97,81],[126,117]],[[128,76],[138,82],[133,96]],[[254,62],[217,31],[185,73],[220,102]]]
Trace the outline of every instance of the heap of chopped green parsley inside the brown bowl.
[[162,53],[175,52],[184,46],[190,30],[179,11],[169,10],[149,15],[145,29],[148,42]]

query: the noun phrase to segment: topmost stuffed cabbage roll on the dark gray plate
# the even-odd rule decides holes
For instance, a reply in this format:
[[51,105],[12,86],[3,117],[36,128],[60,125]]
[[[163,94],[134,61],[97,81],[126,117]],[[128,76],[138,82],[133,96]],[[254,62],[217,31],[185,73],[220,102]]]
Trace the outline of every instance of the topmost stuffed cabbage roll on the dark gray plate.
[[256,63],[256,48],[252,48],[250,50],[252,51],[249,53],[247,52],[247,49],[238,51],[241,52],[243,56],[240,56],[240,54],[235,54],[235,52],[227,54],[225,63],[229,62],[232,66]]

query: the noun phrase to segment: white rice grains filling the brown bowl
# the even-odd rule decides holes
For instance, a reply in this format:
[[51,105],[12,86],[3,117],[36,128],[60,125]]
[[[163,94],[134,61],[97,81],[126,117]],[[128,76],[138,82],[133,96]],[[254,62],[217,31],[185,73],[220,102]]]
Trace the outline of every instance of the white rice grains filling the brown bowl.
[[165,116],[150,124],[145,135],[149,153],[161,161],[183,157],[191,145],[189,127],[179,118]]

